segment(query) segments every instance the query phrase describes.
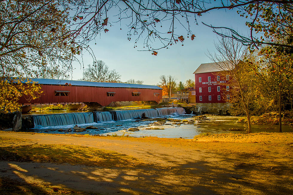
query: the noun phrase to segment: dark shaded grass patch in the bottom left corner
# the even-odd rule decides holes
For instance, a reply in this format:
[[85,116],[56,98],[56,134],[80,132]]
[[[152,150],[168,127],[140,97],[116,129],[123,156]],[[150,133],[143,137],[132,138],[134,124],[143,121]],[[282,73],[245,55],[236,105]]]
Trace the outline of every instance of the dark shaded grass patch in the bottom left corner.
[[[55,191],[54,191],[55,190]],[[70,195],[89,195],[98,193],[93,192],[81,192],[69,188],[63,187],[52,187],[42,184],[31,184],[26,182],[20,182],[18,180],[9,179],[6,177],[0,177],[0,192],[1,194],[9,195],[19,195],[19,194],[38,194],[38,195],[48,195],[48,194],[70,194]]]

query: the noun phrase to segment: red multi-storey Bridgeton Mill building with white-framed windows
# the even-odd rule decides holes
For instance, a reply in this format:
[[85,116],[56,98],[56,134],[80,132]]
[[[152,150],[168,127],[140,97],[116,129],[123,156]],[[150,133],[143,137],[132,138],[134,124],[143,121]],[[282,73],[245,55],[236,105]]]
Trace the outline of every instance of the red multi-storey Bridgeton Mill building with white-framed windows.
[[230,98],[229,75],[220,70],[215,62],[201,64],[193,74],[195,74],[196,112],[227,114],[229,109],[227,99]]

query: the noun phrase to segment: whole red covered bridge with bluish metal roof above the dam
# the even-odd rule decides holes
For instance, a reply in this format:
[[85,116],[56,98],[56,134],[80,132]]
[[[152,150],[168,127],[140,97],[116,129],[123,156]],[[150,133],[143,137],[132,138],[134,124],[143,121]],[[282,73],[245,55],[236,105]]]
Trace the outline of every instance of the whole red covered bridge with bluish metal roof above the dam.
[[85,103],[107,106],[111,102],[155,101],[159,103],[162,100],[162,88],[155,85],[37,78],[31,80],[42,85],[43,93],[30,102],[21,97],[19,103],[22,105]]

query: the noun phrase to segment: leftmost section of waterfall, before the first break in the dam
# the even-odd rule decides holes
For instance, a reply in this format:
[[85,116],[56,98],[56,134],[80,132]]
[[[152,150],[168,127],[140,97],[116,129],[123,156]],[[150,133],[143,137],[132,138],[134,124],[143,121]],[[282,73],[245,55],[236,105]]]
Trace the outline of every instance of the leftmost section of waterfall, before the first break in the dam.
[[93,113],[66,113],[66,114],[45,114],[33,115],[33,122],[35,127],[42,126],[58,126],[58,125],[74,125],[93,123]]

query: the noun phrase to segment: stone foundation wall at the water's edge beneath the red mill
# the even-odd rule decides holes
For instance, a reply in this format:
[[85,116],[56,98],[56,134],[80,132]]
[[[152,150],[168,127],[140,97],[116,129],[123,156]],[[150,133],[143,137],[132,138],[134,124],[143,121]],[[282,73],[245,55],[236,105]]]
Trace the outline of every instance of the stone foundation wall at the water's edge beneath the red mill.
[[229,114],[229,103],[196,103],[195,106],[184,108],[187,114]]

